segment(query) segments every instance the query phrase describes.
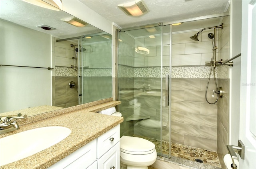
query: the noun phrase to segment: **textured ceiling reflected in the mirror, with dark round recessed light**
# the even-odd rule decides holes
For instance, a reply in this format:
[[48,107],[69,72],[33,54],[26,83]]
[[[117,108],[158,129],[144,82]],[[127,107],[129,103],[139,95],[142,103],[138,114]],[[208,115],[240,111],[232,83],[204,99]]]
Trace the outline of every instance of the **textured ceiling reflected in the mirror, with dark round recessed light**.
[[[61,21],[71,15],[64,11],[41,8],[22,0],[0,0],[0,18],[21,26],[48,33],[60,38],[77,37],[80,35],[102,32],[94,26],[79,28]],[[55,30],[44,30],[36,26],[47,25]]]

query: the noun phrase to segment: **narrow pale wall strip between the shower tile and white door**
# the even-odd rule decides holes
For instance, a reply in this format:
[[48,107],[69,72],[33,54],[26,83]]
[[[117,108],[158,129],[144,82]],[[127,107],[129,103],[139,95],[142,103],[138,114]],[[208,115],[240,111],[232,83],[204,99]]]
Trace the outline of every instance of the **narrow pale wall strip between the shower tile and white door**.
[[[242,33],[242,0],[231,1],[231,38],[230,57],[241,53]],[[241,57],[233,60],[230,68],[230,140],[229,144],[237,145],[239,138],[239,114],[240,114],[240,74]]]

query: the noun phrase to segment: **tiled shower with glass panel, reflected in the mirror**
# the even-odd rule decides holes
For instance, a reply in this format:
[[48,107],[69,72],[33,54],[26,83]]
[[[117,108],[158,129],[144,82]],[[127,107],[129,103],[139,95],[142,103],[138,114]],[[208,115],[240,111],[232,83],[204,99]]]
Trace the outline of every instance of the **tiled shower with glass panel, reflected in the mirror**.
[[53,105],[76,106],[112,97],[112,35],[56,39]]

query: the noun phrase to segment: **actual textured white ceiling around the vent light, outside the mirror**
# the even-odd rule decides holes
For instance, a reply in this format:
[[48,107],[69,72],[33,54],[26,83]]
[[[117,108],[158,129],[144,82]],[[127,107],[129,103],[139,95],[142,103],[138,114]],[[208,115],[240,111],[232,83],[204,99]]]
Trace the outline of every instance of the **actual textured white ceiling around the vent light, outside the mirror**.
[[118,4],[134,0],[79,1],[122,28],[220,14],[229,6],[229,0],[144,0],[150,12],[134,17],[117,8]]

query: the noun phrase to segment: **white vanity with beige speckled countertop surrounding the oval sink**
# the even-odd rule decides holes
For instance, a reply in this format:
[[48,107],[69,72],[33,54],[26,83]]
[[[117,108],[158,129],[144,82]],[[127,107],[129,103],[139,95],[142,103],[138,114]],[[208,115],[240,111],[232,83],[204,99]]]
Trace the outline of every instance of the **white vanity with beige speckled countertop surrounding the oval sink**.
[[[76,166],[81,165],[83,168],[93,169],[97,167],[102,169],[108,165],[110,165],[108,168],[118,168],[120,123],[123,122],[123,118],[96,113],[118,104],[120,104],[119,101],[108,101],[87,105],[86,108],[75,111],[58,110],[50,115],[45,114],[45,116],[51,116],[50,118],[20,125],[20,129],[0,135],[0,138],[3,138],[45,126],[64,126],[71,130],[70,135],[64,140],[34,155],[3,165],[1,169],[80,168]],[[32,116],[31,119],[35,117]],[[24,121],[31,119],[24,119]]]

